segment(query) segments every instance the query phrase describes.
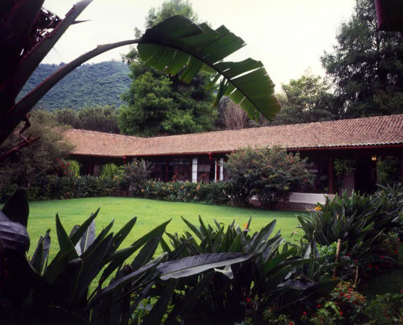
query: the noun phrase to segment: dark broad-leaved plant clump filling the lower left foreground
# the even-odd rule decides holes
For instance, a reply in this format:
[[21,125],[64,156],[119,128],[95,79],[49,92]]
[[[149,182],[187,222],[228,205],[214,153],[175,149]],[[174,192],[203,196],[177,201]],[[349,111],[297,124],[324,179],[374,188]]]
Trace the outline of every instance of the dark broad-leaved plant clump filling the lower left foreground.
[[[132,320],[146,297],[159,298],[143,324],[161,322],[178,279],[244,262],[250,254],[204,254],[178,259],[184,246],[153,258],[170,220],[120,249],[136,223],[116,234],[113,220],[95,236],[93,213],[70,235],[56,214],[59,251],[49,259],[49,231],[30,260],[27,192],[19,190],[0,212],[0,317],[11,323],[120,323]],[[136,257],[130,258],[137,253]],[[125,264],[125,261],[131,261]],[[95,289],[91,284],[96,281]],[[165,283],[168,283],[165,288]],[[161,292],[158,286],[164,286]],[[156,289],[157,288],[157,289]]]

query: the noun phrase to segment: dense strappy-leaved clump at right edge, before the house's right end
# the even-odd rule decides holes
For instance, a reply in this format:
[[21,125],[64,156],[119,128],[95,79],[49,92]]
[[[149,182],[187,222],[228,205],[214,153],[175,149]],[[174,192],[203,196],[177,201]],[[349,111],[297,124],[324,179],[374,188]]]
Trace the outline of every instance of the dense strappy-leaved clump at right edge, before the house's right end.
[[388,187],[374,195],[347,192],[333,200],[326,198],[309,215],[298,220],[308,240],[330,245],[341,239],[347,253],[361,254],[374,242],[381,241],[389,231],[400,231],[403,202],[401,186]]

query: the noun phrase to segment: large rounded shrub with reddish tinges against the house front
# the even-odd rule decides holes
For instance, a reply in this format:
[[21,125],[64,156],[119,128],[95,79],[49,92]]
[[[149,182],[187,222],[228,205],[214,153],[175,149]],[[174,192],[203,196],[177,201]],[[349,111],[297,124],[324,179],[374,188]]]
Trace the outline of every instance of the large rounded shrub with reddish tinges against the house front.
[[262,206],[272,209],[292,191],[312,184],[314,179],[307,159],[278,147],[246,148],[231,153],[225,167],[237,205],[246,205],[256,195]]

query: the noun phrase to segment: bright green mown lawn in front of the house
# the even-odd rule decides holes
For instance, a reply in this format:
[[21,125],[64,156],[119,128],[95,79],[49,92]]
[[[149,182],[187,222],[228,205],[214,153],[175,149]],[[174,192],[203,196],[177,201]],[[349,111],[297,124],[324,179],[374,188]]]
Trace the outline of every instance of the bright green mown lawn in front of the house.
[[[298,225],[298,220],[295,217],[296,212],[293,211],[266,211],[262,209],[118,197],[31,202],[28,220],[28,233],[31,237],[29,254],[32,256],[39,236],[49,228],[51,229],[50,235],[52,238],[49,257],[52,258],[57,253],[56,213],[59,214],[66,232],[70,233],[74,225],[81,224],[98,207],[101,210],[95,219],[97,234],[111,219],[115,220],[112,231],[117,232],[130,218],[133,216],[138,217],[135,226],[122,243],[121,248],[131,245],[136,239],[168,219],[172,219],[172,221],[168,224],[167,231],[182,233],[187,227],[180,216],[185,217],[194,224],[198,224],[197,218],[201,215],[206,224],[210,223],[212,225],[214,225],[214,218],[225,224],[229,224],[235,219],[236,224],[242,225],[242,223],[248,221],[249,217],[252,217],[250,225],[252,231],[258,231],[268,222],[277,219],[275,231],[281,229],[283,236],[286,238],[289,238]],[[294,240],[293,238],[291,240]],[[157,253],[159,255],[161,251]]]

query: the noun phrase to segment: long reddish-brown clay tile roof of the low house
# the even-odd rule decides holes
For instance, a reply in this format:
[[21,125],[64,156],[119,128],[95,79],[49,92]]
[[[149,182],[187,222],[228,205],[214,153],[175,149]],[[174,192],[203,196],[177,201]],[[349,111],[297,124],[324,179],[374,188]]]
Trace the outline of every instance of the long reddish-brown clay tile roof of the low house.
[[152,156],[229,152],[245,146],[329,148],[403,144],[403,115],[140,138],[70,129],[72,154]]

